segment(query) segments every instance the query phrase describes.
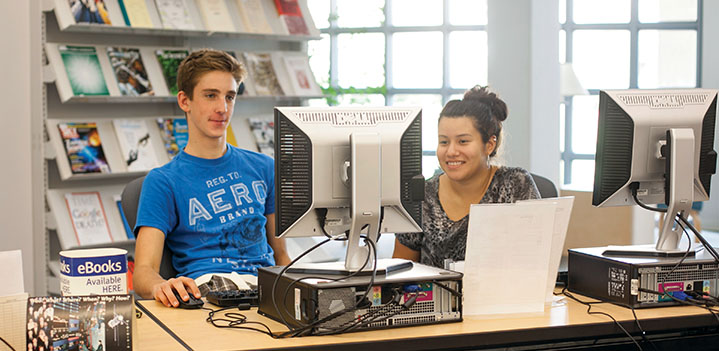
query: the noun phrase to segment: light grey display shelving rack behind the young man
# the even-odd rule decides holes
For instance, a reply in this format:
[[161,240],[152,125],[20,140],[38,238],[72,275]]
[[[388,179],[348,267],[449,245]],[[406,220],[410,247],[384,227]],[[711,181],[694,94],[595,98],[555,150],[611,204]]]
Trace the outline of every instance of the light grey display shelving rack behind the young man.
[[[194,0],[185,0],[194,6]],[[152,1],[148,2],[150,4]],[[44,214],[44,260],[36,260],[46,267],[45,288],[47,293],[58,294],[59,284],[56,277],[58,253],[63,249],[78,248],[76,241],[67,240],[74,237],[72,223],[67,215],[67,206],[64,203],[64,194],[68,192],[97,191],[100,193],[103,206],[107,212],[107,221],[110,227],[113,242],[107,246],[121,247],[134,250],[134,242],[127,239],[117,204],[113,197],[122,193],[122,189],[132,179],[143,176],[146,172],[129,172],[123,163],[120,148],[113,130],[114,119],[144,119],[149,127],[155,127],[157,118],[183,117],[182,111],[177,107],[176,99],[170,96],[164,83],[157,62],[145,62],[148,76],[155,88],[154,96],[119,96],[114,91],[117,87],[114,81],[106,84],[111,90],[110,96],[76,96],[72,94],[63,62],[58,54],[58,45],[82,45],[98,48],[97,56],[100,60],[105,77],[113,77],[109,66],[105,47],[133,47],[140,48],[143,58],[158,48],[204,48],[211,47],[235,52],[276,52],[292,51],[306,53],[306,42],[319,39],[319,32],[314,23],[307,23],[311,35],[278,35],[257,34],[243,32],[211,32],[205,30],[174,30],[159,29],[159,17],[156,11],[150,11],[153,24],[158,28],[131,28],[119,25],[89,25],[75,24],[67,5],[67,0],[45,0],[43,3],[42,43],[44,50],[42,70],[43,86],[43,113],[37,118],[38,126],[43,128],[45,135],[42,152],[44,158],[44,184],[45,214]],[[106,0],[108,12],[112,17],[121,16],[116,1]],[[228,8],[234,9],[235,0],[226,0]],[[309,15],[305,0],[300,0],[302,10]],[[265,11],[271,9],[274,13],[271,0],[263,0]],[[151,6],[150,6],[151,8]],[[196,8],[195,8],[196,11]],[[309,16],[305,16],[307,19]],[[193,23],[201,25],[199,12],[192,14]],[[234,18],[237,21],[237,18]],[[276,24],[274,25],[276,26]],[[198,28],[202,28],[198,26]],[[114,89],[114,90],[113,90]],[[253,136],[249,130],[247,118],[272,118],[274,106],[301,105],[313,96],[240,96],[232,117],[232,128],[239,147],[256,150]],[[58,132],[58,124],[65,122],[95,122],[102,141],[103,150],[110,166],[111,173],[73,174],[66,157],[63,141]],[[153,148],[158,161],[164,163],[169,157],[160,142],[159,130],[148,128],[150,139],[156,140]],[[97,245],[95,245],[97,246]]]

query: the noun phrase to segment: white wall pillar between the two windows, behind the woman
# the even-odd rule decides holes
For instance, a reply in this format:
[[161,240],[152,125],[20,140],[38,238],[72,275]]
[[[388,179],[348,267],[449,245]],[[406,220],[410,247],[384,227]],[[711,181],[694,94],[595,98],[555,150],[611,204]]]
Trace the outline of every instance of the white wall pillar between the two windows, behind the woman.
[[509,107],[504,158],[559,184],[556,0],[488,1],[489,87]]

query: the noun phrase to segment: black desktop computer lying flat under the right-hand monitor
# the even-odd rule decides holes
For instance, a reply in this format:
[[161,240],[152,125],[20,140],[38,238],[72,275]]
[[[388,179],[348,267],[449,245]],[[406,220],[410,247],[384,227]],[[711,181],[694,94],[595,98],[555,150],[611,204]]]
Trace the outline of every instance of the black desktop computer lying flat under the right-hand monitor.
[[[717,296],[719,266],[706,250],[681,257],[606,255],[612,247],[570,249],[567,288],[571,292],[619,305],[643,308],[681,304],[671,297],[640,291],[668,293],[694,291]],[[671,273],[671,274],[670,274]]]

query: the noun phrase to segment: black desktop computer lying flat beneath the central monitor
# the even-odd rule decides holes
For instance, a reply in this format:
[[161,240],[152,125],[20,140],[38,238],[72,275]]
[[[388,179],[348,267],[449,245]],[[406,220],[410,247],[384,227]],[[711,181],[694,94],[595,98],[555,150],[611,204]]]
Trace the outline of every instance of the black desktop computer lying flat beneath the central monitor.
[[[332,314],[337,316],[319,323],[315,330],[359,331],[462,320],[462,273],[414,263],[410,269],[377,274],[367,298],[361,299],[370,275],[337,280],[343,276],[285,273],[278,278],[282,268],[259,269],[258,312],[293,328]],[[404,308],[410,299],[414,304]],[[358,308],[351,310],[357,301]],[[366,322],[351,327],[358,320]]]

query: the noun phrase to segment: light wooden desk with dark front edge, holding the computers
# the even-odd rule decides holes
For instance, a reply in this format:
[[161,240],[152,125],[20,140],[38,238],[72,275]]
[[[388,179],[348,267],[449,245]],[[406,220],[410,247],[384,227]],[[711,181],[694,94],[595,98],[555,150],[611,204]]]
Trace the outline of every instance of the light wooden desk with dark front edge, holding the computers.
[[[593,301],[578,296],[583,301]],[[624,333],[606,316],[588,315],[586,306],[563,298],[548,307],[543,316],[522,318],[483,319],[465,316],[460,323],[404,327],[346,333],[341,335],[301,337],[275,340],[271,337],[248,330],[219,329],[205,322],[207,311],[171,309],[152,301],[140,303],[157,316],[194,350],[263,350],[263,349],[305,349],[305,350],[428,350],[490,348],[518,345],[544,345],[562,342],[586,342],[597,339],[616,338],[624,346],[634,347]],[[206,303],[205,307],[215,308]],[[630,309],[611,304],[600,304],[592,311],[611,314],[622,326],[639,339],[639,329]],[[677,336],[716,334],[719,322],[706,310],[691,307],[664,307],[636,310],[642,328],[649,334],[675,333]],[[281,324],[260,316],[256,310],[244,311],[251,321],[265,323],[273,332],[286,328]],[[144,317],[143,317],[144,318]],[[166,350],[165,345],[157,348],[157,342],[145,343],[149,333],[138,337],[138,350]],[[712,336],[716,342],[719,335]],[[657,339],[659,340],[659,339]],[[694,339],[696,341],[696,338]],[[703,339],[700,345],[712,345]],[[686,340],[681,340],[686,346]],[[716,345],[714,343],[713,345]],[[620,345],[621,346],[621,345]],[[610,348],[618,349],[618,348]],[[648,349],[651,349],[648,348]]]

